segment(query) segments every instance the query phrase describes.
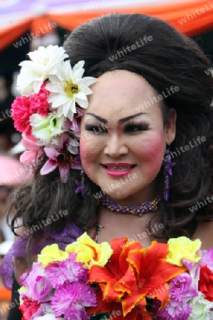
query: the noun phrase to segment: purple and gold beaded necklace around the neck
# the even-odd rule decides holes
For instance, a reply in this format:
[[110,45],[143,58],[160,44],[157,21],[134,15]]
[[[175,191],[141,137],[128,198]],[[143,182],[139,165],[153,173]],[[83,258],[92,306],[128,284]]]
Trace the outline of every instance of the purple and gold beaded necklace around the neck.
[[110,211],[118,213],[130,213],[131,215],[138,215],[139,217],[141,217],[143,213],[158,210],[159,202],[160,196],[157,196],[152,202],[145,201],[141,203],[141,206],[134,208],[133,206],[120,206],[119,203],[109,200],[109,198],[106,196],[99,196],[98,198],[98,203]]

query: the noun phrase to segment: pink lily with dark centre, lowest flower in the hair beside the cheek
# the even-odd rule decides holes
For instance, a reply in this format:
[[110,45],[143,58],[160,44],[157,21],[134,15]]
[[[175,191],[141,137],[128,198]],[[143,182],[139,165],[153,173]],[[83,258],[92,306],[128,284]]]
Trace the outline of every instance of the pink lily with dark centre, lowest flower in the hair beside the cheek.
[[45,154],[49,159],[40,169],[41,175],[49,174],[59,167],[62,182],[66,182],[70,168],[78,170],[82,169],[79,156],[76,155],[77,147],[72,148],[72,154],[67,150],[67,147],[69,147],[69,137],[67,134],[62,134],[58,150],[48,147],[44,148]]

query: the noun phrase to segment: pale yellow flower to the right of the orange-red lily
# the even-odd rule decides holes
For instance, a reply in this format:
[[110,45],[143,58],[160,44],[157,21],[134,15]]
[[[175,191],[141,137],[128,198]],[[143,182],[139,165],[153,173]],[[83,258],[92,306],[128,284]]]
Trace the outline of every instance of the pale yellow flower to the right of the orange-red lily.
[[182,259],[186,258],[190,262],[198,262],[200,257],[196,254],[200,249],[201,241],[190,240],[187,237],[172,238],[168,240],[169,252],[166,261],[172,265],[182,267]]

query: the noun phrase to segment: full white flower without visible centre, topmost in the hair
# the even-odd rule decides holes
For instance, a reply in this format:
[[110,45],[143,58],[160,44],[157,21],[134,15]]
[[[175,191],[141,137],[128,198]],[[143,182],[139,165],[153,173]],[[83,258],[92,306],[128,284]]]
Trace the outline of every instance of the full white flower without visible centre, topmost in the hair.
[[43,81],[57,73],[57,65],[68,58],[65,49],[58,46],[40,46],[38,50],[28,53],[31,60],[22,61],[17,78],[17,89],[21,95],[38,93]]

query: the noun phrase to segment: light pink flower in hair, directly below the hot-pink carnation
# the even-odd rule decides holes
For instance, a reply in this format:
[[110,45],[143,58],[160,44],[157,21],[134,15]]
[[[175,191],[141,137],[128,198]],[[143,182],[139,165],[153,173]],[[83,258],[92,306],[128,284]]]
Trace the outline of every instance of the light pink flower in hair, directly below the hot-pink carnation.
[[27,149],[27,151],[23,152],[20,156],[20,161],[23,164],[31,164],[43,155],[43,147],[38,146],[36,144],[37,141],[38,139],[35,139],[32,134],[26,135],[26,132],[22,133],[21,143]]

